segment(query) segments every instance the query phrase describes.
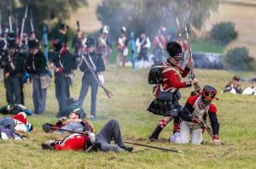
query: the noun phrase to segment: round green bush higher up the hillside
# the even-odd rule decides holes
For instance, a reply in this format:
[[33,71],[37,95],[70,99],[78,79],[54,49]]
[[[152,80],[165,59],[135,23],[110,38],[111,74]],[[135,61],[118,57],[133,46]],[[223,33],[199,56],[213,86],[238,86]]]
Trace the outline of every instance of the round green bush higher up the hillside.
[[232,22],[215,24],[210,31],[210,37],[219,44],[227,45],[237,37],[235,25]]

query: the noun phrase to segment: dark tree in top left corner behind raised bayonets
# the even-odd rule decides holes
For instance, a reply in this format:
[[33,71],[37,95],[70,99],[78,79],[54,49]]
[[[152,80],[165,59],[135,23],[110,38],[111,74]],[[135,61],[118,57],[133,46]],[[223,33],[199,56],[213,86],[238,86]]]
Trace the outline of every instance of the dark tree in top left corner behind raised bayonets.
[[[61,22],[62,20],[67,20],[70,13],[77,10],[77,8],[80,6],[88,5],[87,0],[4,0],[0,2],[0,6],[9,7],[10,3],[12,4],[13,8],[14,20],[19,20],[19,26],[21,25],[21,20],[25,13],[26,5],[28,5],[29,11],[26,19],[26,31],[30,31],[29,20],[30,11],[32,10],[34,20],[33,23],[35,31],[38,35],[41,35],[44,24],[52,27],[55,25],[55,23]],[[3,25],[9,27],[9,8],[2,8],[2,10]]]

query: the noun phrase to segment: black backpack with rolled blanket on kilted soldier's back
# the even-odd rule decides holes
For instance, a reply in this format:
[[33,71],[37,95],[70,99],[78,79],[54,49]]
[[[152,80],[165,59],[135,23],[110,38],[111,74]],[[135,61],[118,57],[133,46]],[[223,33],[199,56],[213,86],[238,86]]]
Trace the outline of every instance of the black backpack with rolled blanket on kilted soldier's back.
[[160,84],[163,82],[163,77],[161,74],[161,70],[164,67],[164,63],[162,61],[156,61],[148,73],[148,84]]

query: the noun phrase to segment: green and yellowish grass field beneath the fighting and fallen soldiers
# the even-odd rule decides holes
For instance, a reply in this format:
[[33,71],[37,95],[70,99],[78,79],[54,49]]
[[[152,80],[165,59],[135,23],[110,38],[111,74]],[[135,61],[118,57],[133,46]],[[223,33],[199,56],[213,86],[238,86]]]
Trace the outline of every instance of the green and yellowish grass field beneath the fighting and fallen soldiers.
[[[229,72],[225,70],[195,70],[201,86],[211,84],[218,89],[218,120],[220,138],[224,146],[214,146],[211,138],[204,135],[206,144],[170,144],[167,139],[172,132],[168,125],[160,134],[160,142],[148,142],[148,136],[160,119],[146,109],[152,101],[151,87],[147,83],[148,70],[113,68],[109,65],[105,73],[106,85],[114,94],[113,99],[99,89],[97,115],[92,121],[96,131],[108,119],[119,120],[125,140],[137,141],[170,149],[183,150],[183,154],[155,149],[135,147],[133,153],[89,153],[53,152],[41,149],[41,143],[61,135],[44,133],[41,124],[55,122],[57,104],[54,85],[49,87],[47,111],[44,115],[29,116],[35,130],[27,140],[0,140],[0,168],[256,168],[256,104],[255,96],[221,94],[220,90],[232,76],[253,76],[253,72]],[[76,71],[76,82],[71,88],[72,97],[79,97],[81,74]],[[26,106],[32,108],[32,85],[26,84]],[[181,103],[185,102],[192,88],[182,91]],[[6,104],[3,83],[0,83],[0,105]],[[90,96],[90,95],[89,95]],[[88,111],[90,97],[85,100],[84,110]]]

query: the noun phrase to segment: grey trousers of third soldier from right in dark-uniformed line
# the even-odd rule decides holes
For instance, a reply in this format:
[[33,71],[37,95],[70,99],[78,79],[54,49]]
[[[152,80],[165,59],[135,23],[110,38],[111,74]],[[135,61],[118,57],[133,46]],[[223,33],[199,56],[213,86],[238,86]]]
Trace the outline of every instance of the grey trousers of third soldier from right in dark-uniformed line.
[[41,82],[38,76],[32,75],[32,97],[35,114],[42,114],[45,110],[47,88],[41,89]]

